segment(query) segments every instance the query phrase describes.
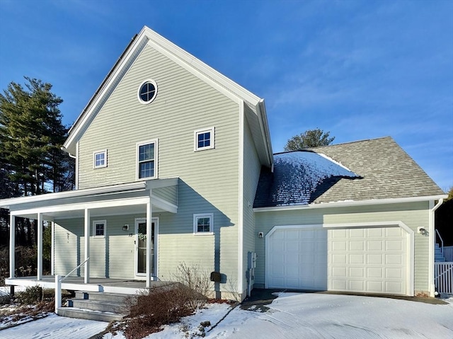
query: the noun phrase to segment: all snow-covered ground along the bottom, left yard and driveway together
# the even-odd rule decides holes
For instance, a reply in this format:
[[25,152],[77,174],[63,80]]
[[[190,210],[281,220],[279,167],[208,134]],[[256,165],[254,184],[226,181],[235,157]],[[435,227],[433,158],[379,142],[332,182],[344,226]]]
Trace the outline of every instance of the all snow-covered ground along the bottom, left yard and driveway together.
[[[335,294],[281,293],[267,312],[236,307],[205,338],[453,338],[453,297],[447,305],[389,298]],[[213,326],[230,311],[212,304],[181,323],[147,339],[201,338],[194,336],[202,321]],[[0,331],[0,338],[90,338],[107,323],[55,315]],[[209,332],[208,332],[209,331]],[[118,333],[104,339],[124,339]]]

